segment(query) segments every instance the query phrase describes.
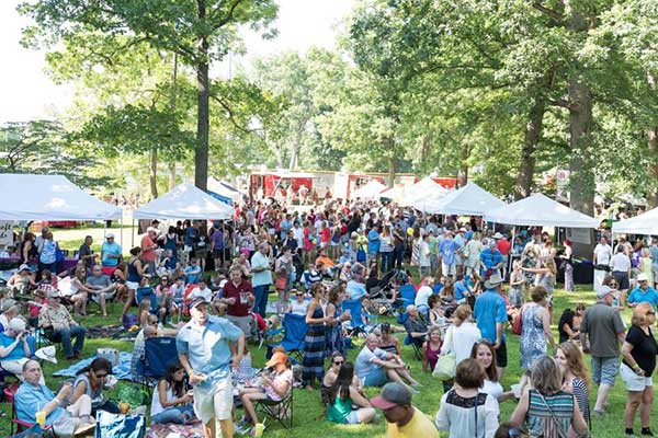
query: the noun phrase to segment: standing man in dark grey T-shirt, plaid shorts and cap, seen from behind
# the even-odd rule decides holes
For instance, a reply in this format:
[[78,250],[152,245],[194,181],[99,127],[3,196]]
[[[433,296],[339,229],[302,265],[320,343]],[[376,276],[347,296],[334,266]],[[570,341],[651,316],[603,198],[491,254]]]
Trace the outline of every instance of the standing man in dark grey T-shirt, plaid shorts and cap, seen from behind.
[[[620,343],[624,342],[624,323],[612,304],[616,290],[601,286],[597,303],[585,311],[580,323],[580,345],[590,344],[592,380],[599,384],[593,414],[603,416],[608,393],[619,372]],[[587,351],[586,351],[587,353]]]

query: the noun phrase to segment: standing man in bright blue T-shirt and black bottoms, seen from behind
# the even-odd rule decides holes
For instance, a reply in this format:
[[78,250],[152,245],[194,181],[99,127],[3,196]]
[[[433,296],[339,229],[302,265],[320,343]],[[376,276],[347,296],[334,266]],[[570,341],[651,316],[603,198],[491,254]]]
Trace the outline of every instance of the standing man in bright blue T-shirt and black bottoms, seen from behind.
[[477,327],[483,337],[494,344],[496,349],[496,365],[499,379],[507,367],[507,344],[503,327],[508,321],[507,306],[500,295],[503,279],[500,274],[494,274],[485,280],[485,291],[475,301],[473,316],[477,320]]

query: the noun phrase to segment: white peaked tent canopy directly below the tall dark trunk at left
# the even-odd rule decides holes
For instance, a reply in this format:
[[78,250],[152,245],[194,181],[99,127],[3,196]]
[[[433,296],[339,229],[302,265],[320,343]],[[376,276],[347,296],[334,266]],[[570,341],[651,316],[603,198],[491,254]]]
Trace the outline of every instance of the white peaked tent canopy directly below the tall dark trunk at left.
[[230,219],[234,210],[193,184],[181,184],[133,211],[135,219]]

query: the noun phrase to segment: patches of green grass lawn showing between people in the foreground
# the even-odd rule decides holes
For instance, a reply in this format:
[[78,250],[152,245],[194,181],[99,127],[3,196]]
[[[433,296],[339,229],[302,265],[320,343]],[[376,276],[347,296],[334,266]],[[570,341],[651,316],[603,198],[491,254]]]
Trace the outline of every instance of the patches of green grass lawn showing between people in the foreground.
[[[273,299],[273,295],[270,299]],[[554,321],[557,323],[561,311],[565,308],[574,309],[575,304],[579,301],[591,304],[594,302],[594,293],[590,287],[579,287],[578,291],[574,293],[567,293],[563,290],[557,290],[555,293],[555,314]],[[95,311],[95,308],[92,308]],[[121,306],[113,303],[110,306],[111,314],[107,318],[100,315],[89,315],[82,319],[80,322],[86,326],[94,325],[109,325],[118,323],[118,314],[121,313]],[[624,320],[629,322],[631,312],[624,311]],[[557,339],[557,327],[554,325],[554,334]],[[349,354],[349,359],[354,360],[358,351],[360,350],[363,342],[359,339],[356,342],[356,348],[352,349]],[[112,339],[88,339],[84,344],[83,356],[89,357],[93,355],[97,348],[100,347],[114,347],[121,350],[132,351],[132,344],[128,342],[112,341]],[[254,346],[251,347],[254,357],[256,365],[262,365],[264,362],[263,347],[258,350]],[[512,383],[517,383],[521,371],[519,369],[519,337],[511,335],[508,331],[508,354],[509,354],[509,367],[507,368],[503,377],[502,384],[506,389]],[[421,392],[413,396],[413,404],[418,406],[426,414],[432,418],[439,410],[439,402],[443,394],[441,382],[432,379],[429,373],[421,373],[420,362],[413,359],[411,347],[405,347],[405,360],[411,365],[412,374],[423,384]],[[57,389],[60,379],[52,377],[53,372],[59,368],[66,367],[67,361],[64,359],[61,350],[58,348],[59,365],[49,362],[44,364],[44,371],[46,376],[46,382],[52,390]],[[589,357],[586,358],[586,362],[589,367]],[[374,396],[378,393],[377,389],[367,389],[367,395]],[[112,395],[112,394],[111,394]],[[593,406],[595,400],[595,388],[592,389],[590,394],[591,406]],[[592,424],[592,436],[597,438],[613,438],[623,436],[624,423],[623,412],[626,400],[626,392],[624,384],[617,377],[615,387],[611,391],[610,406],[608,414],[603,418],[594,418]],[[9,418],[11,415],[11,406],[9,404],[0,405],[1,410],[7,413],[7,417],[0,420],[0,436],[9,436]],[[501,404],[501,419],[509,419],[512,411],[515,407],[515,402],[508,401]],[[638,414],[639,416],[639,414]],[[658,431],[658,422],[656,417],[651,420],[651,428]],[[636,418],[635,430],[639,433],[639,417]],[[327,422],[321,417],[321,404],[319,390],[307,391],[305,389],[295,389],[294,393],[294,428],[292,430],[282,429],[280,425],[272,422],[268,422],[268,429],[265,436],[270,437],[341,437],[341,436],[354,436],[354,437],[384,437],[385,436],[385,420],[379,415],[376,423],[364,426],[341,426]],[[447,437],[447,434],[443,436]],[[465,437],[468,438],[468,437]]]

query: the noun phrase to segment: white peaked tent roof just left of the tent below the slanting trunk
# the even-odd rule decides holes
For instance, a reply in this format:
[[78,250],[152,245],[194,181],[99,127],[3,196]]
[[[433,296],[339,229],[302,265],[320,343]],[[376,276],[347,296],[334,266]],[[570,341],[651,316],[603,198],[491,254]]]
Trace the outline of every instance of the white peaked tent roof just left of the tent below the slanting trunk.
[[475,183],[451,192],[442,198],[416,203],[413,207],[433,215],[474,215],[504,206],[504,203]]

